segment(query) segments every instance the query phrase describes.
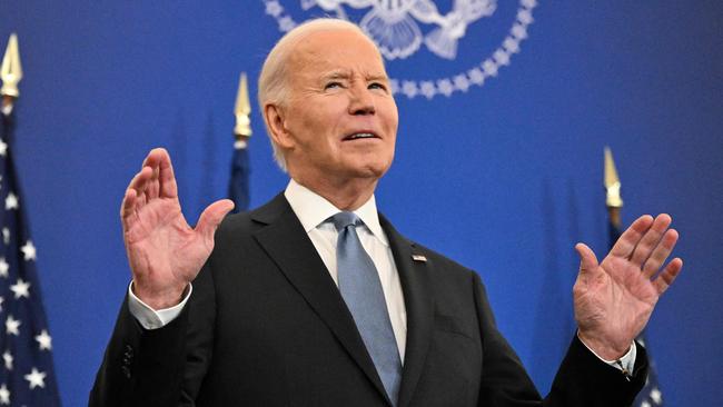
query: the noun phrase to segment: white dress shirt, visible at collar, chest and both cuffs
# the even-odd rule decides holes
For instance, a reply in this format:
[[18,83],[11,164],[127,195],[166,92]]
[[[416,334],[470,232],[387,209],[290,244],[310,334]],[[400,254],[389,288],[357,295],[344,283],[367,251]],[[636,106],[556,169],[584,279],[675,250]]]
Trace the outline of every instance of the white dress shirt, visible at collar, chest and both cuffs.
[[[314,247],[329,271],[331,279],[334,279],[334,282],[338,286],[339,281],[336,268],[336,241],[338,232],[334,227],[334,224],[327,220],[341,210],[336,208],[321,196],[299,185],[294,179],[289,181],[284,191],[284,196],[314,244]],[[387,236],[379,225],[379,217],[377,215],[377,206],[374,196],[372,196],[372,198],[369,198],[369,200],[360,208],[355,210],[354,214],[356,214],[356,216],[358,216],[364,222],[364,225],[356,227],[356,231],[361,241],[361,246],[364,246],[364,249],[372,258],[372,261],[374,261],[374,266],[379,274],[379,281],[382,282],[384,298],[387,302],[392,329],[394,330],[394,336],[397,340],[397,348],[399,349],[399,358],[404,364],[407,338],[407,311],[404,305],[404,294],[402,291],[399,272],[394,262]],[[184,300],[177,306],[161,310],[153,310],[136,297],[132,291],[131,282],[130,287],[128,287],[129,310],[143,328],[157,329],[164,327],[180,314],[190,298],[191,291],[192,287],[190,287]],[[583,345],[585,343],[583,343]],[[587,345],[585,346],[587,347]],[[590,347],[587,347],[587,349],[590,349]],[[590,350],[606,364],[617,369],[622,369],[621,366],[618,366],[617,360],[605,360],[592,349]],[[620,359],[622,367],[627,371],[633,371],[636,354],[637,349],[635,343],[633,343],[628,353]]]

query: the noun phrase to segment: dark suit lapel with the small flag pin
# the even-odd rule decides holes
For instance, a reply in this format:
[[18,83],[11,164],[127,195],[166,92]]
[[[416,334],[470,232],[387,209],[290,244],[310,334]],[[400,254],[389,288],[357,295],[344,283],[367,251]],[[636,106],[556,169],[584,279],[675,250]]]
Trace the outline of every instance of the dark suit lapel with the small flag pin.
[[382,215],[379,221],[389,239],[407,309],[407,346],[397,404],[397,407],[406,407],[412,401],[419,381],[432,340],[434,321],[434,298],[429,282],[432,265],[424,254],[399,235]]

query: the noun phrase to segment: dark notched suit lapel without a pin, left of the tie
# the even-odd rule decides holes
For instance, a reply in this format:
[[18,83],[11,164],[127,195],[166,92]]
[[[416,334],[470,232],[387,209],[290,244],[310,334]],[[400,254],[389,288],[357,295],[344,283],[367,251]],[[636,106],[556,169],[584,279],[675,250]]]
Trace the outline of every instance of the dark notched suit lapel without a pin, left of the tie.
[[278,195],[271,202],[254,211],[251,218],[267,225],[255,234],[259,245],[329,327],[377,390],[387,397],[344,298],[286,198]]

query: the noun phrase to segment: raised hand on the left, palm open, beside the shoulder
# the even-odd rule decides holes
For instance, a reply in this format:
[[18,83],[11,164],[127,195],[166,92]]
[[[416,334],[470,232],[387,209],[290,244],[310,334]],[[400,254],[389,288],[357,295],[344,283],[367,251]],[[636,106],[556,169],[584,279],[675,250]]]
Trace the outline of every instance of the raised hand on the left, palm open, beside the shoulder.
[[231,209],[232,201],[218,200],[191,228],[180,209],[168,151],[151,150],[120,207],[133,294],[153,309],[179,304],[214,249],[216,228]]

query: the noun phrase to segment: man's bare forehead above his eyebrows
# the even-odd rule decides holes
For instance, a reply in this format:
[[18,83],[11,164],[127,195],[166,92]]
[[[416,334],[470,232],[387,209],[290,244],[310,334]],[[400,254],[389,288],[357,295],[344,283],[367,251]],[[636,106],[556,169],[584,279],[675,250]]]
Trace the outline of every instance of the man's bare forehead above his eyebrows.
[[291,77],[323,77],[330,71],[386,76],[376,46],[354,30],[309,33],[299,41],[289,63]]

